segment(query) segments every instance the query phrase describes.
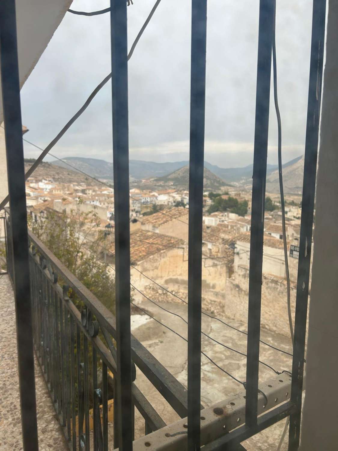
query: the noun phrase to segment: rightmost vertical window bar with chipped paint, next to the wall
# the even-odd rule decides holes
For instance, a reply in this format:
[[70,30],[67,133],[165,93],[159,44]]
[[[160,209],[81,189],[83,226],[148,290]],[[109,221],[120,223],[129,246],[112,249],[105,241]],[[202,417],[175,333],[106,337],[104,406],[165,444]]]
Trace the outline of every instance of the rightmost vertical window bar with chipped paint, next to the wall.
[[325,39],[325,0],[313,1],[309,95],[307,105],[303,196],[301,201],[301,234],[296,294],[296,314],[292,359],[291,401],[296,412],[290,415],[289,450],[297,450],[301,427],[301,394],[303,390],[307,302],[311,262],[313,210],[317,169],[320,100]]

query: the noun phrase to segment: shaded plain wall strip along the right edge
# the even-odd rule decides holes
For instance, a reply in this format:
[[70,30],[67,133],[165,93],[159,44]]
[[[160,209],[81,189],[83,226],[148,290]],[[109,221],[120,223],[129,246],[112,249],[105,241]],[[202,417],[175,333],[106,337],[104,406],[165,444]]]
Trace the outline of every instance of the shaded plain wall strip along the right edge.
[[329,0],[302,451],[338,449],[338,2]]

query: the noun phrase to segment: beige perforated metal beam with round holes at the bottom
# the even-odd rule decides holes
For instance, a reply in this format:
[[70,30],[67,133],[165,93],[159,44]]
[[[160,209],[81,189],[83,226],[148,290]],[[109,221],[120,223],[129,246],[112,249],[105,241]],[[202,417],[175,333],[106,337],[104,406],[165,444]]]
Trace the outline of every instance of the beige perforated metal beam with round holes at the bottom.
[[[271,409],[269,412],[269,422],[274,423],[279,421],[283,417],[281,412],[284,410],[287,410],[287,412],[290,411],[293,405],[290,406],[290,403],[285,404],[285,401],[289,400],[291,392],[291,376],[289,374],[272,377],[265,383],[260,384],[259,389],[264,392],[268,401],[266,403],[265,397],[261,393],[258,394],[258,413],[263,414]],[[227,440],[230,438],[233,440],[235,431],[230,431],[245,423],[245,396],[246,391],[242,391],[238,395],[231,396],[211,407],[206,407],[200,412],[201,446],[207,445],[208,443],[210,444],[208,446],[211,446],[211,442],[225,435],[228,437]],[[282,405],[279,406],[280,404]],[[241,429],[241,433],[244,434],[244,438],[236,435],[236,445],[256,434],[259,430],[268,427],[270,424],[265,420],[262,424],[256,426],[256,429],[243,426],[244,429]],[[146,437],[142,437],[133,443],[133,451],[144,451],[145,449],[149,451],[187,451],[188,428],[186,426],[187,418],[184,418],[176,423],[165,426],[159,431],[148,434]]]

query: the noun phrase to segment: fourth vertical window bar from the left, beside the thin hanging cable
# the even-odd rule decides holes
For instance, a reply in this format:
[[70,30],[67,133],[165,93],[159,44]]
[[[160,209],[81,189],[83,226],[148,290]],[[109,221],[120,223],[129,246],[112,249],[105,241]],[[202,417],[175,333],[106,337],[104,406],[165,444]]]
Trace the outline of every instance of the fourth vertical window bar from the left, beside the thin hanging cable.
[[247,335],[246,424],[248,427],[253,427],[257,423],[260,301],[273,20],[274,2],[271,0],[260,0]]

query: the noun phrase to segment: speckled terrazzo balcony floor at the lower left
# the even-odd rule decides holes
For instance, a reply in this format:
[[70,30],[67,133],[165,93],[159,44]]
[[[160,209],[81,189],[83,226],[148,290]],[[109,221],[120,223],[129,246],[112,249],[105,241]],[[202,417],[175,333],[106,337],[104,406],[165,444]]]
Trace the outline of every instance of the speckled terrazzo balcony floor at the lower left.
[[[0,450],[22,450],[14,293],[0,276]],[[39,451],[69,450],[37,360],[35,361]]]

